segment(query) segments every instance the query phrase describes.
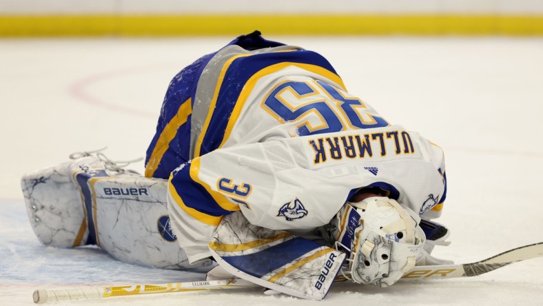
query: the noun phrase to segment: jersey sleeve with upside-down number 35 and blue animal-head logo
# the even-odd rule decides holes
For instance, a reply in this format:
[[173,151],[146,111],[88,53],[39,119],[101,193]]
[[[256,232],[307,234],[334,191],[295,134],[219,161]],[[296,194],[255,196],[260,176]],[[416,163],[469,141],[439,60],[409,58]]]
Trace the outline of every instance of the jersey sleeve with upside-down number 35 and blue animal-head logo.
[[209,256],[214,230],[238,210],[250,223],[272,230],[312,229],[335,216],[358,180],[311,170],[293,140],[215,150],[170,176],[168,206],[189,261]]

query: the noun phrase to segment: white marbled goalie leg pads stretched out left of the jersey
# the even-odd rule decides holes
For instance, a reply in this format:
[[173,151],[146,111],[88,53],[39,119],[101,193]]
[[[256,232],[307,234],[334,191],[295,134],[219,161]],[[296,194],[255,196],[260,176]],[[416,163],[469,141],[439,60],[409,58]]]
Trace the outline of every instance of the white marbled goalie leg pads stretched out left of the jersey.
[[119,261],[150,267],[211,265],[190,265],[179,247],[166,207],[167,180],[125,171],[101,154],[86,155],[21,179],[28,217],[41,243],[98,245]]

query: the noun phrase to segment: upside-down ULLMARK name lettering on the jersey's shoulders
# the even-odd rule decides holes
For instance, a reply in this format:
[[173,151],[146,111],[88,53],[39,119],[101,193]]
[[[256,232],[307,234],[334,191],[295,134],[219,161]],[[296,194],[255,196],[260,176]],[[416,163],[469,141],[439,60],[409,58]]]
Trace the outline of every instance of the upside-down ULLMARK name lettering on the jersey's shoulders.
[[[315,151],[315,164],[326,163],[329,159],[339,160],[343,157],[364,159],[373,157],[373,148],[380,149],[376,154],[386,156],[392,151],[398,154],[413,154],[413,142],[405,131],[378,132],[371,134],[353,134],[347,136],[321,137],[311,139],[309,145]],[[372,147],[374,145],[374,147]]]

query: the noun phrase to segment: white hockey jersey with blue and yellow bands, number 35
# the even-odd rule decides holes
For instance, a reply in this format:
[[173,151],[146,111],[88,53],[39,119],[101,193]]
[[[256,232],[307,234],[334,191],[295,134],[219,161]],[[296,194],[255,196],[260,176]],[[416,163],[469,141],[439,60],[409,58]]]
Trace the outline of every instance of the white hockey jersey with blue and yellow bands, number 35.
[[170,119],[190,125],[189,134],[165,123],[146,172],[162,171],[185,137],[189,161],[172,171],[168,210],[189,261],[209,256],[209,239],[227,214],[240,210],[273,230],[311,230],[362,187],[380,188],[424,218],[439,216],[446,195],[440,147],[348,94],[319,54],[233,44],[201,66],[193,94]]

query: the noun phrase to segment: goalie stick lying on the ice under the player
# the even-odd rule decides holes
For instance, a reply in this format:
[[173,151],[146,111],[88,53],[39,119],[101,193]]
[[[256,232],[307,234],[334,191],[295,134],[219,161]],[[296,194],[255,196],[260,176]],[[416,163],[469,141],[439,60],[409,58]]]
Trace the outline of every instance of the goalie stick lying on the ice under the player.
[[[478,276],[491,272],[500,267],[543,256],[543,242],[524,245],[501,254],[486,258],[476,263],[452,265],[418,266],[409,270],[402,280],[457,278]],[[338,277],[338,281],[345,278]],[[214,289],[235,289],[259,287],[258,285],[234,278],[224,281],[199,281],[184,283],[167,283],[159,285],[127,285],[112,287],[77,287],[72,289],[37,289],[34,291],[34,303],[46,303],[57,300],[79,300],[92,298],[110,298],[112,296],[136,296],[143,294],[161,294],[172,292],[190,292]]]

